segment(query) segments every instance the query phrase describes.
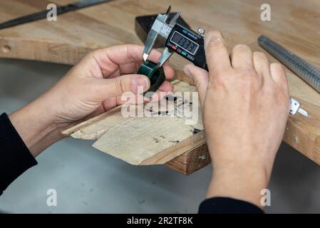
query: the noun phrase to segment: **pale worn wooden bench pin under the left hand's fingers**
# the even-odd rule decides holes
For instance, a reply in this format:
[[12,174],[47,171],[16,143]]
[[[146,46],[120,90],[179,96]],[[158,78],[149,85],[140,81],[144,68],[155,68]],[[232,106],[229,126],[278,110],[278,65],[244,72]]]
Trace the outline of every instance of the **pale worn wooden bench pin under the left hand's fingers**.
[[[195,87],[178,80],[172,81],[172,85],[175,86],[175,93],[170,96],[175,100],[163,98],[145,104],[148,105],[145,108],[141,106],[147,112],[144,117],[125,117],[121,113],[126,107],[123,105],[65,130],[63,134],[96,140],[93,147],[132,165],[165,164],[205,144],[198,98],[196,101],[192,99],[191,93],[180,97],[183,92],[195,92]],[[171,108],[168,108],[169,103]],[[138,109],[136,105],[130,108]],[[186,122],[190,120],[188,114],[194,114],[195,123]]]

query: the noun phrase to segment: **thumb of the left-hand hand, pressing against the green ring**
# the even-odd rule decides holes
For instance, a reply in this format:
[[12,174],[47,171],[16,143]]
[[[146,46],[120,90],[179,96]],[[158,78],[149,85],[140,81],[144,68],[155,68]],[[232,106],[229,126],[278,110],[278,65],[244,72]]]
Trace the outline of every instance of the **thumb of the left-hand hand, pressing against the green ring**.
[[[143,92],[150,88],[150,81],[147,76],[130,74],[117,78],[103,79],[103,99],[123,95],[125,92],[138,93],[138,87],[143,87]],[[141,88],[139,88],[141,89]]]

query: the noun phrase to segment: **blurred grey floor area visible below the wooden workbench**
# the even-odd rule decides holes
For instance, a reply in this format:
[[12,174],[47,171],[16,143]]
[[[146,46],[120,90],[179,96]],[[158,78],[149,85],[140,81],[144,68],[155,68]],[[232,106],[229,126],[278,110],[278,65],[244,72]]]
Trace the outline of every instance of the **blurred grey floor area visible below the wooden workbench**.
[[[0,113],[11,113],[50,88],[70,66],[0,60]],[[37,157],[0,197],[9,213],[193,213],[205,197],[211,166],[189,177],[164,166],[135,167],[93,149],[91,141],[67,138]],[[46,191],[56,189],[57,207]],[[282,145],[269,186],[267,212],[319,213],[320,166]]]

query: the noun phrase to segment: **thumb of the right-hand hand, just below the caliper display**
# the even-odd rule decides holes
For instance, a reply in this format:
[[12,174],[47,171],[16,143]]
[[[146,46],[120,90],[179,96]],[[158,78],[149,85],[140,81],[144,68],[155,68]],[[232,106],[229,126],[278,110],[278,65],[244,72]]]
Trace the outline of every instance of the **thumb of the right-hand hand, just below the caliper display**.
[[205,94],[207,93],[207,86],[209,81],[209,75],[207,71],[202,68],[199,68],[193,64],[187,64],[183,68],[185,74],[192,78],[195,81],[195,87],[199,93],[200,103],[203,107],[203,103],[205,102]]

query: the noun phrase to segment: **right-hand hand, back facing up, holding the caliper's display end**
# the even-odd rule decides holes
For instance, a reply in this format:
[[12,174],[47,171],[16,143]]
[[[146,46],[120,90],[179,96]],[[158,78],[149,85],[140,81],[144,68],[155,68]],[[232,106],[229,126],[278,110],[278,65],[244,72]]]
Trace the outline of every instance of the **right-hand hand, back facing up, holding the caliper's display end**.
[[209,73],[193,65],[205,133],[215,168],[207,197],[233,197],[262,207],[289,115],[284,68],[264,53],[237,45],[229,53],[220,31],[205,38]]

